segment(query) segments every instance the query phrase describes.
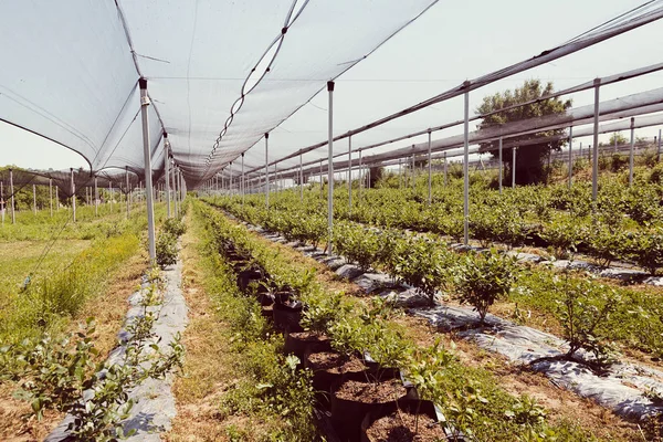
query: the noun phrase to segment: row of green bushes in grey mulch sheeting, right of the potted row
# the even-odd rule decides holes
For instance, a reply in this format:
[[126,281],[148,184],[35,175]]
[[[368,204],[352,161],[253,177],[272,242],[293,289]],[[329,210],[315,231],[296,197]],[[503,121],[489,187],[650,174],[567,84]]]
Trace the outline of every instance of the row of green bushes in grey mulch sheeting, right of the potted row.
[[[306,242],[308,235],[302,232],[307,225],[315,231],[325,222],[320,215],[296,209],[265,210],[229,200],[217,203],[293,241]],[[306,217],[308,222],[303,221]],[[496,301],[513,302],[519,312],[544,312],[559,324],[559,333],[569,341],[569,358],[585,348],[599,361],[612,361],[615,341],[654,357],[663,355],[663,301],[641,291],[603,284],[568,267],[559,272],[516,265],[513,257],[495,250],[459,252],[431,236],[352,222],[336,224],[334,244],[339,254],[362,270],[386,272],[415,287],[431,304],[436,295],[470,304],[482,320]],[[516,320],[524,319],[522,314],[515,316]]]

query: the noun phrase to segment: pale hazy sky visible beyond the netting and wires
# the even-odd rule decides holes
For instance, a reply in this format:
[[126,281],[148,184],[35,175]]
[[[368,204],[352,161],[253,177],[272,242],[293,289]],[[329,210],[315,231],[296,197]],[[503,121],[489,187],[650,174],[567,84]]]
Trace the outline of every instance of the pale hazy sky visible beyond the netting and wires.
[[[642,2],[643,0],[440,0],[368,59],[337,78],[334,93],[334,133],[346,133],[444,92],[466,78],[529,59]],[[597,76],[659,63],[661,41],[663,20],[474,91],[470,94],[471,112],[474,112],[484,96],[519,86],[527,78],[551,81],[555,88],[565,88]],[[663,73],[655,73],[608,85],[601,88],[601,101],[656,88],[662,81]],[[593,101],[593,92],[577,93],[567,98],[572,99],[573,107],[589,105]],[[327,99],[327,92],[322,92],[272,131],[270,146],[275,154],[271,159],[276,159],[280,147],[292,150],[292,147],[306,147],[326,138]],[[425,129],[460,119],[462,115],[463,99],[456,97],[357,135],[352,139],[352,146]],[[220,122],[220,127],[222,124]],[[434,138],[461,131],[462,127],[459,126],[436,133]],[[659,128],[639,129],[636,136],[653,137],[657,133]],[[609,136],[601,136],[600,139],[607,140]],[[425,136],[375,151],[403,147],[424,139]],[[590,139],[578,141],[591,144]],[[259,143],[253,149],[262,151],[262,145]],[[335,145],[337,152],[346,149],[347,141]],[[304,160],[325,156],[326,150],[319,149],[307,155]],[[36,169],[87,166],[76,152],[0,123],[0,166],[9,164]]]

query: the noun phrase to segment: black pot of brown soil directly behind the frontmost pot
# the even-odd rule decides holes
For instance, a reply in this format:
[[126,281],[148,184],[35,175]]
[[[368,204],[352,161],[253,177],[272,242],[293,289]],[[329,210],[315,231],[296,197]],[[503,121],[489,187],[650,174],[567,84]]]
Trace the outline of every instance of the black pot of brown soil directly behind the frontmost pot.
[[385,381],[344,380],[332,386],[332,421],[348,440],[359,441],[364,418],[394,407],[408,390],[400,379]]

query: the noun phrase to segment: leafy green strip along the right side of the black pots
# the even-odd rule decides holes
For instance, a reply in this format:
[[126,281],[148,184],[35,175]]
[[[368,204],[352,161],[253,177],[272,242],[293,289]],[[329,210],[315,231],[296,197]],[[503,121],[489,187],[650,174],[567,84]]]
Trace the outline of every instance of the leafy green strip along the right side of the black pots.
[[497,386],[490,371],[462,365],[453,351],[439,347],[417,349],[392,323],[380,323],[378,316],[361,308],[356,299],[338,298],[326,292],[313,281],[309,270],[290,264],[274,249],[253,239],[244,228],[232,224],[210,208],[198,210],[214,225],[217,235],[249,250],[270,275],[297,290],[309,312],[317,312],[317,319],[329,316],[332,319],[324,328],[333,340],[343,341],[355,350],[368,349],[376,360],[400,360],[411,373],[424,371],[422,366],[428,367],[431,377],[421,382],[421,392],[440,403],[448,419],[465,433],[472,433],[480,441],[596,440],[568,421],[549,422],[545,409],[532,398],[507,393]]

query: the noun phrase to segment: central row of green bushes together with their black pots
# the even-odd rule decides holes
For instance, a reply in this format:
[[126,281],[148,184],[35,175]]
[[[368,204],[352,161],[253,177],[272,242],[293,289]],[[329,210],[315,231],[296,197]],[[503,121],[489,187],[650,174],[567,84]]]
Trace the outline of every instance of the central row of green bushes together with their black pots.
[[[296,314],[296,306],[301,305],[299,320],[282,323],[290,332],[285,348],[303,359],[317,389],[318,406],[329,407],[333,423],[343,419],[347,429],[370,434],[385,424],[380,419],[389,421],[389,415],[396,413],[406,418],[391,423],[398,421],[398,425],[407,427],[412,438],[409,440],[415,440],[415,433],[423,432],[425,427],[422,423],[419,429],[419,419],[435,420],[424,415],[430,402],[422,400],[430,400],[440,406],[445,421],[436,425],[450,440],[592,440],[568,422],[550,422],[536,401],[506,393],[496,387],[488,372],[463,366],[453,349],[439,343],[417,348],[404,337],[404,330],[390,320],[394,312],[385,304],[367,305],[329,293],[315,281],[309,269],[288,263],[245,228],[210,207],[197,203],[197,210],[208,221],[224,253],[243,256],[251,263],[244,265],[246,273],[239,278],[240,285],[248,287],[245,293],[252,298],[260,299],[263,315],[271,307],[278,324],[277,309],[285,305]],[[253,277],[251,271],[255,272]],[[269,283],[260,284],[265,276]],[[283,293],[287,293],[287,301]],[[412,399],[411,391],[419,399]]]

